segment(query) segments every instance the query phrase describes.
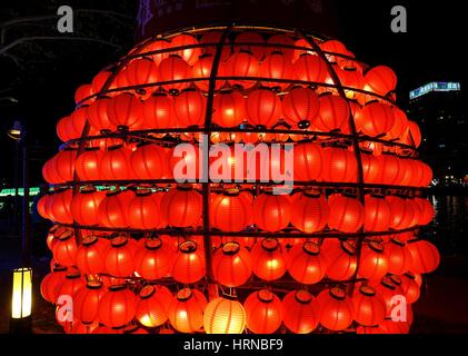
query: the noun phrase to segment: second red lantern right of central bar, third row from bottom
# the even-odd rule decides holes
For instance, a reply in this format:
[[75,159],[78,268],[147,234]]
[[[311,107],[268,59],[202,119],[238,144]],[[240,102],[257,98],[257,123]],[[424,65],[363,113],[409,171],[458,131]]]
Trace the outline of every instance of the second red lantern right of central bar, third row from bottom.
[[286,196],[261,194],[252,204],[253,222],[262,230],[279,231],[291,220],[291,204]]

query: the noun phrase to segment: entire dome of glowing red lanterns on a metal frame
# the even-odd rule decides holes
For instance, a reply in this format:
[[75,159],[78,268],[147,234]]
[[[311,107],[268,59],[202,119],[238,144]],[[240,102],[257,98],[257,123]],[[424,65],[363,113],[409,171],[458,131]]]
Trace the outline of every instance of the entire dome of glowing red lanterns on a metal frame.
[[417,236],[432,171],[396,73],[256,27],[130,53],[78,88],[42,168],[41,295],[64,332],[409,333],[440,255]]

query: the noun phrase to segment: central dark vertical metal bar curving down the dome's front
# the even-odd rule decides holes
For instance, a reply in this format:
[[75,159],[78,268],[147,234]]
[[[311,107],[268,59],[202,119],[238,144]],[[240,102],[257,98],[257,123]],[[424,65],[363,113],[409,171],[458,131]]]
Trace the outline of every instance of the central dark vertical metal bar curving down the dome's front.
[[207,270],[208,283],[213,281],[212,266],[211,266],[211,236],[209,231],[211,230],[210,224],[210,182],[209,182],[209,150],[210,150],[210,136],[211,136],[211,119],[212,119],[212,108],[213,108],[213,96],[216,90],[216,80],[218,77],[219,62],[221,61],[221,53],[226,39],[231,30],[232,26],[228,26],[221,34],[219,43],[216,48],[216,55],[213,58],[210,79],[209,79],[209,89],[208,89],[208,100],[207,100],[207,111],[205,116],[205,130],[203,135],[206,140],[208,140],[205,147],[208,148],[207,152],[202,155],[202,201],[203,201],[203,246],[205,246],[205,263]]

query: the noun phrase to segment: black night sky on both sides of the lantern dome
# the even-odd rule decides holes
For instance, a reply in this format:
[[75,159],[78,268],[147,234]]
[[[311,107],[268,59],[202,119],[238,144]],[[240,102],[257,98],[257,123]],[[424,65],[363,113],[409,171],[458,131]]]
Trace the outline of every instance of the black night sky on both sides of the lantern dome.
[[[327,1],[327,0],[323,0]],[[340,36],[358,58],[370,65],[385,63],[392,67],[399,76],[399,101],[405,106],[408,91],[434,80],[461,81],[465,83],[466,66],[462,47],[468,33],[462,1],[397,1],[365,0],[337,1],[339,12]],[[11,4],[9,4],[11,2]],[[26,14],[53,13],[62,1],[1,1],[0,22]],[[127,11],[129,17],[136,14],[137,0],[118,1],[68,1],[74,7],[99,8]],[[99,4],[96,4],[99,3]],[[408,33],[392,33],[390,30],[390,9],[404,4],[408,10]],[[87,21],[86,17],[80,20]],[[32,184],[38,184],[40,167],[47,156],[57,150],[59,140],[54,136],[57,120],[73,109],[74,89],[89,81],[103,66],[132,47],[132,29],[118,30],[96,29],[99,36],[110,36],[112,41],[121,46],[120,50],[110,47],[83,47],[82,56],[67,50],[56,51],[54,63],[26,63],[33,76],[21,79],[13,86],[9,81],[21,78],[24,69],[12,66],[11,61],[0,57],[0,97],[2,90],[12,87],[11,93],[19,99],[18,106],[0,103],[0,129],[4,132],[12,120],[27,118],[33,140],[44,148],[36,157],[38,161],[31,168],[36,172]],[[66,43],[63,46],[73,46]],[[38,75],[41,79],[36,78]],[[46,78],[46,79],[43,79]],[[4,134],[0,134],[0,178],[8,177],[12,184],[13,144]],[[42,161],[41,161],[42,160]]]

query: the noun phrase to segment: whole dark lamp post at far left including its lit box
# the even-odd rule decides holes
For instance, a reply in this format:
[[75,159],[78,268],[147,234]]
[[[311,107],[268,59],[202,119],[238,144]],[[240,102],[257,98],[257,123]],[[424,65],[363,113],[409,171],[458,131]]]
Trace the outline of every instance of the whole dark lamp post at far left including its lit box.
[[13,270],[13,290],[11,304],[10,333],[31,332],[32,269],[31,231],[29,214],[29,157],[27,130],[23,123],[14,121],[8,136],[17,141],[22,151],[22,219],[21,219],[21,268]]

